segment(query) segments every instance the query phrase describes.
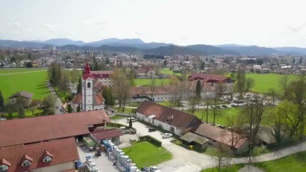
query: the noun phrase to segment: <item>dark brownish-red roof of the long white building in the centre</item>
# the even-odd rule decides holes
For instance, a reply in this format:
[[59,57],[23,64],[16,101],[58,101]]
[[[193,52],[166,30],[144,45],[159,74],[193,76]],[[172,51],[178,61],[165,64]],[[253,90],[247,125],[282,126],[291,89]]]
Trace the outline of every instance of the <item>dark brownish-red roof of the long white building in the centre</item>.
[[164,123],[168,120],[169,125],[181,129],[193,128],[202,123],[194,115],[148,101],[142,102],[136,112],[146,117],[155,115],[156,117],[154,119]]

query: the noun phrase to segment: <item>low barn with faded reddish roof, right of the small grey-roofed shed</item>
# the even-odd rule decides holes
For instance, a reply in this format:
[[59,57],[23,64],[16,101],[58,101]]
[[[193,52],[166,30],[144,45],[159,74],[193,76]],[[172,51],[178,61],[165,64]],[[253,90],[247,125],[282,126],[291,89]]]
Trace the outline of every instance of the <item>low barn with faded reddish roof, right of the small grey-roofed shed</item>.
[[232,147],[236,154],[245,152],[249,148],[249,141],[243,135],[232,133],[231,131],[210,124],[201,124],[192,129],[191,132],[209,139],[208,145],[217,146],[218,144],[222,144]]

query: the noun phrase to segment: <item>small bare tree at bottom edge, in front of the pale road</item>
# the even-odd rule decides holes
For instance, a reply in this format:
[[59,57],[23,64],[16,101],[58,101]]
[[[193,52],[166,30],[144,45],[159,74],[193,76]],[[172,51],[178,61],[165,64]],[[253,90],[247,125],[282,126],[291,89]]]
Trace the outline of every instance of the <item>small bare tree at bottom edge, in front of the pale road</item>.
[[223,164],[228,164],[231,160],[231,156],[233,156],[233,151],[223,144],[217,144],[215,148],[212,148],[212,152],[212,157],[218,164],[218,171],[221,170]]

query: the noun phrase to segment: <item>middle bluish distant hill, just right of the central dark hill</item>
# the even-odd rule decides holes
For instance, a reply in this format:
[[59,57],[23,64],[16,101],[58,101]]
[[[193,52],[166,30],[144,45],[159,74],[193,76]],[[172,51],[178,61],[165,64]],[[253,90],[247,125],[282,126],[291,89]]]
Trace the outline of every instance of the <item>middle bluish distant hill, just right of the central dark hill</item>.
[[222,49],[219,47],[214,47],[211,45],[188,45],[188,48],[197,50],[197,51],[201,51],[205,54],[209,54],[209,55],[239,55],[238,52],[233,51],[233,50],[227,50],[227,49]]

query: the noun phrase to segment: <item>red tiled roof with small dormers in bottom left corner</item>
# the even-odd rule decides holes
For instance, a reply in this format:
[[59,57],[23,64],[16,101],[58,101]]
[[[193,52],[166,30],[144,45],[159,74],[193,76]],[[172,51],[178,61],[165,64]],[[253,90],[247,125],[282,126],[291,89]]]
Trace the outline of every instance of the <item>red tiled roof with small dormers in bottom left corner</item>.
[[[52,152],[54,155],[49,162],[43,162],[45,150]],[[32,157],[32,162],[29,166],[21,165],[25,154]],[[11,163],[11,166],[6,172],[28,171],[80,159],[74,138],[0,149],[0,159],[1,158],[5,158]]]

